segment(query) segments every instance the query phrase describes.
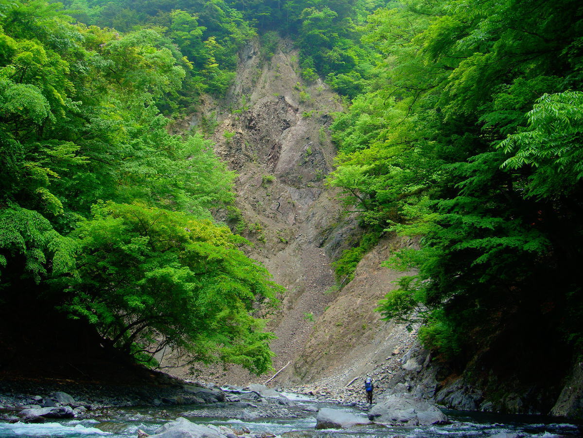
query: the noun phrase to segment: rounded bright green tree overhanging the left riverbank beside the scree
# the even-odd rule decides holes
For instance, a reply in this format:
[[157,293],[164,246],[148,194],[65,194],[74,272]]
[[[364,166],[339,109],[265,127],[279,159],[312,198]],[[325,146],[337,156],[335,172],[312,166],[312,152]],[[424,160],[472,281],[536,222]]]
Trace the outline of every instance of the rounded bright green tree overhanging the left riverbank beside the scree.
[[94,206],[73,236],[78,268],[54,285],[67,296],[63,308],[111,344],[142,360],[171,346],[192,362],[270,369],[273,335],[250,313],[258,301],[273,304],[281,288],[227,227],[110,202]]

